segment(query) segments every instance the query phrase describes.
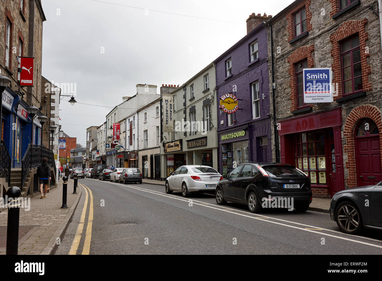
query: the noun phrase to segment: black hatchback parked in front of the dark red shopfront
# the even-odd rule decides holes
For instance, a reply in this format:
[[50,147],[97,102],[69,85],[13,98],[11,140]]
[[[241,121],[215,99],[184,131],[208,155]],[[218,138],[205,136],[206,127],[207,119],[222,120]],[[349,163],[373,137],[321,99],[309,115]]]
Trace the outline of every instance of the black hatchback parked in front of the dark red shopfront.
[[223,175],[216,186],[219,205],[227,201],[247,204],[252,213],[262,208],[288,208],[305,212],[312,203],[309,177],[283,163],[245,163]]

